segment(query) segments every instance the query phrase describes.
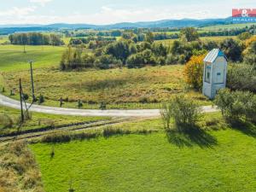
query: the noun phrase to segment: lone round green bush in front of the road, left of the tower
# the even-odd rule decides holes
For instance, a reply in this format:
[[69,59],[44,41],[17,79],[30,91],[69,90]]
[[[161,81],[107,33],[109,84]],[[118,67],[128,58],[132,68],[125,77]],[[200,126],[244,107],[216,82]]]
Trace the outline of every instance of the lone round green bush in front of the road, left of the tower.
[[194,127],[200,116],[199,106],[185,96],[175,96],[172,101],[164,106],[161,111],[166,128],[170,125],[171,118],[177,128]]

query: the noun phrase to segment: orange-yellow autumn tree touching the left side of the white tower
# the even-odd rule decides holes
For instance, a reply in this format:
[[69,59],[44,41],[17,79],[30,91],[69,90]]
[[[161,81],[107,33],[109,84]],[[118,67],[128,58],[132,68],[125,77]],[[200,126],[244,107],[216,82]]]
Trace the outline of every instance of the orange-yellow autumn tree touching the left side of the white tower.
[[186,82],[196,90],[201,90],[202,87],[204,57],[205,55],[192,56],[184,69]]

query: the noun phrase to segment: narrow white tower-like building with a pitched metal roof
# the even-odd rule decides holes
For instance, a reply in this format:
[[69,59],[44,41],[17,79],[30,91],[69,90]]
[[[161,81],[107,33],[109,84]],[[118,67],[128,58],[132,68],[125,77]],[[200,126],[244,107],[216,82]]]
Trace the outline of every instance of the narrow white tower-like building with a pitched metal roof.
[[204,59],[203,95],[213,99],[226,87],[228,60],[220,49],[212,49]]

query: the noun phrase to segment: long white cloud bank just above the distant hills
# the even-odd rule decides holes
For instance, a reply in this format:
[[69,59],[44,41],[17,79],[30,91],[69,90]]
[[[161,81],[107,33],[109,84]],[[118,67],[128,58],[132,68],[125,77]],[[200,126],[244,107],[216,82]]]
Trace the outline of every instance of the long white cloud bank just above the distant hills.
[[[52,0],[30,0],[33,3],[49,3]],[[230,0],[228,0],[230,1]],[[247,0],[251,1],[251,0]],[[253,0],[255,1],[255,0]],[[65,15],[59,15],[56,10],[49,9],[48,12],[38,14],[40,7],[12,8],[7,11],[0,11],[1,23],[15,24],[48,24],[57,22],[66,23],[89,23],[89,24],[110,24],[117,22],[136,22],[148,20],[165,20],[165,19],[206,19],[206,18],[224,18],[231,15],[233,5],[230,2],[219,6],[218,3],[190,4],[183,6],[176,4],[173,6],[157,7],[136,7],[125,6],[123,8],[114,8],[114,6],[102,6],[94,14],[86,13],[82,10],[73,10]],[[240,7],[240,6],[239,6]],[[37,9],[37,13],[35,13]]]

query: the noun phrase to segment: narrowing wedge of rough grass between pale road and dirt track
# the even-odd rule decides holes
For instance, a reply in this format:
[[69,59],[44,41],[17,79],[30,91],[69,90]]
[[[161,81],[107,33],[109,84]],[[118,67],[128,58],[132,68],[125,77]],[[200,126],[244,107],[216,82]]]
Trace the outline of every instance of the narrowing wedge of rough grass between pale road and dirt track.
[[[5,108],[0,106],[0,117],[3,114],[9,115],[13,121],[12,127],[5,127],[3,121],[0,120],[0,135],[14,133],[18,130],[20,110]],[[96,121],[100,119],[108,119],[102,117],[81,117],[81,116],[65,116],[45,113],[31,113],[32,119],[27,119],[21,126],[20,131],[37,130],[44,127],[51,128],[52,126],[76,124],[79,122]]]

